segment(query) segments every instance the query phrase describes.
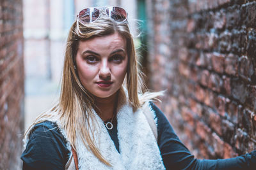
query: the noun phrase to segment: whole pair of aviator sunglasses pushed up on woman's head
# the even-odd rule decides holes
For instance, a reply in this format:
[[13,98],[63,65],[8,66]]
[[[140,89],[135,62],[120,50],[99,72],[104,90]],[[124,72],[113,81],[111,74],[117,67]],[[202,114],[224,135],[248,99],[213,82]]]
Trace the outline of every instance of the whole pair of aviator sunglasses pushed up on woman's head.
[[105,11],[109,18],[112,18],[118,22],[125,21],[128,17],[128,13],[124,10],[124,8],[108,6],[85,8],[79,12],[77,19],[84,24],[92,23],[100,17],[101,11]]

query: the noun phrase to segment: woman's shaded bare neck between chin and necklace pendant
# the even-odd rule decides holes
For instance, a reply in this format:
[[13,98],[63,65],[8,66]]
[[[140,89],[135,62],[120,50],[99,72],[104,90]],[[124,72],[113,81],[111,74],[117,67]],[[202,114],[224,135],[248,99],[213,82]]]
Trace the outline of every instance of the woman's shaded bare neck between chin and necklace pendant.
[[111,120],[116,112],[118,92],[106,98],[95,97],[95,111],[103,120]]

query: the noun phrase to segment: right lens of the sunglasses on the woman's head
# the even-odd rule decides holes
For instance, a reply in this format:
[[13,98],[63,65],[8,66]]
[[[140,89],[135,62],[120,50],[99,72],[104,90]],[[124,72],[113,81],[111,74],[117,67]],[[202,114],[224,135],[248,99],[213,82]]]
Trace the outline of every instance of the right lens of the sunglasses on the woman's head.
[[112,10],[106,9],[107,15],[109,15],[113,20],[124,21],[127,18],[127,13],[123,8],[113,7]]

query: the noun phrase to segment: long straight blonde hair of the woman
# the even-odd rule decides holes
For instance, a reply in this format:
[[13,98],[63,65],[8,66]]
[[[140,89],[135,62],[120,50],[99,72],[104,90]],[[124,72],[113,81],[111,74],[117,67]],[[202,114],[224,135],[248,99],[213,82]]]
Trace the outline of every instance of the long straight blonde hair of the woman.
[[[60,101],[51,110],[54,111],[55,115],[52,112],[49,112],[49,114],[44,113],[36,118],[29,128],[31,129],[33,125],[44,122],[45,118],[58,117],[61,127],[67,132],[67,139],[73,148],[76,149],[76,138],[79,136],[84,145],[108,166],[111,166],[111,164],[102,157],[94,142],[93,132],[96,131],[96,128],[94,124],[93,97],[84,89],[74,66],[76,66],[77,46],[80,40],[106,36],[115,32],[118,32],[127,41],[129,59],[124,85],[127,89],[129,103],[131,103],[133,109],[137,110],[147,99],[152,99],[159,95],[158,93],[146,92],[139,99],[139,94],[142,94],[143,83],[141,81],[141,73],[138,70],[134,42],[127,22],[116,22],[104,16],[91,24],[82,24],[76,21],[72,24],[67,38]],[[29,132],[29,129],[27,132]]]

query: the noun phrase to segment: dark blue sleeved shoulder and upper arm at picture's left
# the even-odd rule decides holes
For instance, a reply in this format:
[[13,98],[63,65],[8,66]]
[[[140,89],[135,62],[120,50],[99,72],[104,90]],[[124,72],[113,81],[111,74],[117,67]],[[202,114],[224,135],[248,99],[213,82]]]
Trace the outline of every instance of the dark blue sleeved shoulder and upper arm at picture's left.
[[67,141],[58,125],[45,121],[34,125],[29,132],[28,143],[21,159],[31,167],[63,167],[68,160],[68,154]]

